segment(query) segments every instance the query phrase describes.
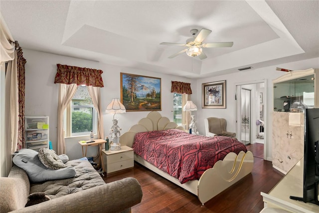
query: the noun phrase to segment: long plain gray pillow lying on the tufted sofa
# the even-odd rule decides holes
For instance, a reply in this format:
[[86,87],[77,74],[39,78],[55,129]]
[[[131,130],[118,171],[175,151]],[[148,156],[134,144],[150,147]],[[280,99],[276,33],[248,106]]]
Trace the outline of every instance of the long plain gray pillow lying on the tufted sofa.
[[66,167],[59,170],[46,168],[38,157],[38,152],[31,149],[21,149],[14,154],[13,163],[23,169],[31,183],[38,183],[49,180],[73,178],[76,171],[73,167]]

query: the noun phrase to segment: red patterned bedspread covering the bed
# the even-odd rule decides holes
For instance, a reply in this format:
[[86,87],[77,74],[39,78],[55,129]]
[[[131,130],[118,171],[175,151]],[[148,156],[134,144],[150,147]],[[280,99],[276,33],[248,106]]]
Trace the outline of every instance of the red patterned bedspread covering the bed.
[[225,156],[247,152],[235,138],[213,138],[188,134],[177,129],[140,132],[133,149],[144,160],[179,180],[181,184],[200,176]]

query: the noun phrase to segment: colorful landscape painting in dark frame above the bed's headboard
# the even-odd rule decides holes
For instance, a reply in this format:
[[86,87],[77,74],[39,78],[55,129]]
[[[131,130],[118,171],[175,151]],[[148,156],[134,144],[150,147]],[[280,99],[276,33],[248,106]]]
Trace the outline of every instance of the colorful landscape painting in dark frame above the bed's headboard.
[[127,112],[160,111],[161,79],[121,72],[121,102]]

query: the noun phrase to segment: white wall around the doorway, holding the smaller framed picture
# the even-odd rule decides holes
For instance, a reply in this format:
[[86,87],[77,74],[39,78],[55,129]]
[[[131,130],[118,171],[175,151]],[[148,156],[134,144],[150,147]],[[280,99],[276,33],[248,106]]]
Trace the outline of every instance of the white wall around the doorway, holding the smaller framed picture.
[[[313,58],[308,60],[296,61],[286,64],[278,64],[274,66],[264,67],[260,69],[252,69],[249,71],[241,71],[233,74],[214,76],[208,78],[198,79],[196,82],[196,99],[194,103],[197,105],[198,111],[196,111],[196,120],[198,121],[197,128],[200,134],[204,134],[204,118],[207,117],[220,117],[227,120],[227,130],[235,132],[236,130],[236,118],[235,118],[235,84],[241,82],[253,82],[262,79],[267,79],[267,97],[263,97],[263,101],[267,101],[267,109],[264,109],[264,113],[267,115],[267,160],[272,160],[272,112],[273,112],[273,83],[272,80],[286,74],[283,71],[277,71],[276,67],[282,67],[290,70],[304,70],[309,68],[319,68],[319,58]],[[202,83],[215,82],[226,80],[226,109],[201,109],[201,87]],[[244,83],[246,84],[246,83]]]

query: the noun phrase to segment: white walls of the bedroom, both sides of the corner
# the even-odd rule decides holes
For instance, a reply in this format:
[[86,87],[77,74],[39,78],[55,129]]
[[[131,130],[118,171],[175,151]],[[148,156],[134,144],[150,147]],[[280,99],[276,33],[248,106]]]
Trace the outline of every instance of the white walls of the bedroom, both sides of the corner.
[[[56,64],[68,64],[80,67],[89,67],[102,69],[104,87],[101,89],[102,105],[107,106],[112,98],[120,98],[120,72],[133,73],[139,75],[146,75],[161,78],[161,115],[173,118],[172,114],[172,93],[170,93],[171,81],[183,81],[191,83],[193,91],[192,100],[197,105],[198,110],[192,114],[196,116],[198,121],[197,128],[200,134],[204,134],[204,122],[206,117],[223,117],[227,120],[227,130],[234,132],[236,130],[235,124],[235,84],[241,82],[260,81],[268,79],[267,94],[264,95],[264,102],[267,101],[268,109],[265,109],[267,115],[267,159],[271,160],[272,148],[272,111],[273,111],[273,88],[272,80],[285,74],[282,71],[276,71],[276,67],[283,67],[292,70],[303,70],[308,68],[318,68],[319,58],[296,61],[287,64],[279,64],[269,66],[261,69],[252,69],[249,71],[242,71],[228,75],[221,75],[215,77],[208,77],[202,79],[189,79],[179,76],[166,75],[148,70],[139,70],[132,68],[125,68],[103,64],[94,61],[88,61],[78,58],[66,57],[55,54],[48,54],[28,49],[23,49],[23,56],[26,58],[25,64],[25,115],[47,115],[50,116],[50,140],[53,143],[53,149],[56,149],[57,141],[57,97],[58,85],[54,84],[54,76],[56,73]],[[201,106],[201,84],[226,80],[226,109],[202,109]],[[122,127],[122,133],[136,124],[140,118],[145,117],[149,112],[127,112],[119,114],[119,126]],[[109,133],[112,126],[111,114],[103,114],[104,117],[104,131]],[[81,147],[77,144],[78,140],[86,140],[84,138],[68,138],[66,140],[66,154],[70,159],[80,158],[82,156]],[[95,156],[97,152],[96,147],[91,147],[88,150],[88,156]]]

